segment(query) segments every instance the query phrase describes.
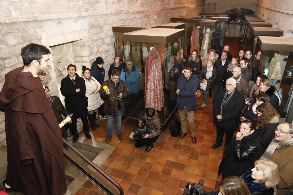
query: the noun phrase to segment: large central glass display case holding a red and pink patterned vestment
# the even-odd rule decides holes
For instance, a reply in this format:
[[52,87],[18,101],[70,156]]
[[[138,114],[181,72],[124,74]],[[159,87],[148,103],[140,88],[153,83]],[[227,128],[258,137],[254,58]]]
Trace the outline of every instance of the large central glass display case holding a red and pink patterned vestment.
[[[122,34],[123,54],[128,54],[129,48],[138,46],[137,50],[142,51],[145,57],[143,62],[133,65],[136,71],[139,70],[139,79],[136,78],[134,82],[128,76],[131,67],[126,67],[127,73],[122,71],[120,76],[130,89],[132,105],[127,113],[128,123],[137,125],[137,121],[144,116],[146,108],[149,107],[158,112],[163,130],[170,123],[177,109],[176,87],[178,76],[182,72],[180,59],[177,59],[176,55],[181,57],[180,46],[184,45],[184,37],[185,29],[172,28],[148,28]],[[135,55],[130,53],[129,58],[136,58]],[[129,61],[127,59],[126,64]],[[139,87],[139,92],[134,95],[133,83]],[[137,91],[133,93],[135,92]]]

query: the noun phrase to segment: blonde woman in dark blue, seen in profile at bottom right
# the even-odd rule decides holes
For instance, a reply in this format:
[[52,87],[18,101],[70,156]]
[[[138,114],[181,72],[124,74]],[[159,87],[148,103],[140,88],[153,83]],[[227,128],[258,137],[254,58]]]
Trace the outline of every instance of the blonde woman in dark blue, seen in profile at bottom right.
[[273,195],[279,183],[279,168],[268,159],[255,161],[254,168],[241,175],[251,195]]

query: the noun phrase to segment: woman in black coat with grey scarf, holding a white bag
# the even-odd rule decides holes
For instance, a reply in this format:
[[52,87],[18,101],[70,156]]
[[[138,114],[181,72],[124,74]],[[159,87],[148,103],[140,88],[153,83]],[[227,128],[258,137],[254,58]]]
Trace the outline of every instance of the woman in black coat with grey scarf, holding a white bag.
[[210,90],[214,88],[214,81],[216,80],[217,77],[217,70],[214,67],[214,61],[208,59],[207,60],[207,65],[202,68],[199,74],[199,79],[200,79],[200,87],[203,89],[204,93],[204,102],[200,107],[205,107],[207,106],[207,97],[209,96]]

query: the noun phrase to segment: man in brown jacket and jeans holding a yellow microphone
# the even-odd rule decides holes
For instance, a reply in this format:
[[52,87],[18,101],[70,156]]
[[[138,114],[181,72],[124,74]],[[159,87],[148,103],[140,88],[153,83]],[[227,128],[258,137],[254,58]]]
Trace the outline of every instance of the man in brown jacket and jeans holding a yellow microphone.
[[100,96],[104,100],[104,113],[107,118],[107,139],[109,144],[113,134],[113,122],[115,121],[115,131],[119,141],[123,141],[121,131],[121,118],[125,115],[124,99],[129,96],[126,83],[120,80],[120,71],[113,69],[110,79],[103,82],[103,87],[107,86],[109,91],[101,90]]

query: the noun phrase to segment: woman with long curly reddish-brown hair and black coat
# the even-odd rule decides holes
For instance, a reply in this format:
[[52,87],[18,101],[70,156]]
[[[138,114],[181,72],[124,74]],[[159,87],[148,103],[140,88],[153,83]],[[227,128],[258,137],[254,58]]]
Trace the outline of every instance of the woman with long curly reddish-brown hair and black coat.
[[[277,113],[268,103],[262,103],[256,107],[256,132],[260,136],[260,152],[259,155],[263,155],[272,139],[275,137],[275,128],[279,122],[280,115]],[[259,157],[260,157],[259,156]]]

